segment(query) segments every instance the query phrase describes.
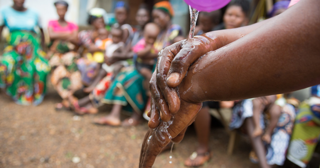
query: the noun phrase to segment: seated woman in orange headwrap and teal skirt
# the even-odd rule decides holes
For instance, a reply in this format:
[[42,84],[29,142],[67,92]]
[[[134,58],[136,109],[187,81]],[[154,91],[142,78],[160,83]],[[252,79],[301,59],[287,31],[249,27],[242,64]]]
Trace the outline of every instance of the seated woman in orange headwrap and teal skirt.
[[[155,50],[160,51],[162,48],[171,45],[174,38],[182,34],[181,28],[178,25],[171,24],[173,9],[167,1],[155,4],[152,16],[154,22],[161,29],[154,43]],[[156,53],[153,55],[156,56]],[[122,125],[139,124],[147,98],[142,82],[143,76],[136,69],[124,69],[116,77],[105,97],[101,100],[103,103],[113,105],[111,113],[106,117],[97,119],[95,122],[113,126],[121,125],[120,112],[124,109],[126,111],[133,111],[133,114],[129,119],[123,121]]]

